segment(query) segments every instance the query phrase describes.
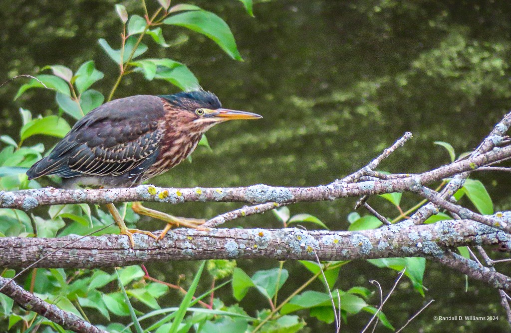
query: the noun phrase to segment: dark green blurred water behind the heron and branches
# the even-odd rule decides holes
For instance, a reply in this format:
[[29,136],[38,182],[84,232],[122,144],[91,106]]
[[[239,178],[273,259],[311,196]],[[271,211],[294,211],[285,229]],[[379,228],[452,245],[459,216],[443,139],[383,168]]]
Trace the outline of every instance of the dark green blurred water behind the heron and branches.
[[[107,95],[118,66],[97,43],[105,38],[117,47],[120,21],[115,1],[0,1],[0,80],[36,74],[48,64],[76,70],[94,59],[105,79],[93,86]],[[156,1],[147,1],[150,9]],[[181,28],[165,27],[170,48],[151,40],[148,57],[171,58],[189,66],[202,87],[215,92],[224,107],[257,112],[260,121],[222,124],[208,132],[213,151],[203,147],[193,163],[181,165],[151,183],[159,186],[241,186],[264,183],[280,186],[326,184],[364,166],[405,131],[414,139],[380,167],[392,172],[420,172],[449,162],[433,141],[451,143],[459,154],[474,149],[511,107],[511,4],[509,2],[424,1],[261,1],[255,18],[233,0],[190,2],[226,20],[244,62],[226,56],[212,41]],[[136,1],[123,2],[128,12],[142,14]],[[186,41],[186,42],[182,42]],[[24,79],[0,89],[0,133],[19,138],[18,108],[34,114],[55,114],[54,93],[33,89],[12,99]],[[134,74],[123,80],[115,97],[168,94],[177,88],[161,81],[147,82]],[[67,119],[72,122],[71,119]],[[46,147],[56,140],[43,138]],[[27,144],[41,140],[35,137]],[[497,210],[509,210],[508,175],[478,174]],[[403,196],[402,207],[417,197]],[[292,214],[310,213],[331,229],[346,229],[346,216],[356,199],[302,203]],[[371,198],[381,213],[398,212],[381,198]],[[467,203],[468,207],[470,203]],[[228,203],[187,203],[178,206],[148,204],[174,215],[210,218],[239,207]],[[472,208],[472,207],[471,207]],[[365,212],[360,212],[365,213]],[[161,224],[143,218],[139,226]],[[281,227],[273,214],[229,222],[225,227]],[[309,226],[312,227],[312,226]],[[249,275],[277,267],[275,261],[238,261]],[[501,264],[502,271],[509,271]],[[155,277],[174,282],[191,276],[195,262],[147,265]],[[281,295],[309,278],[294,262],[287,262],[290,278]],[[364,286],[370,279],[388,291],[397,273],[357,261],[343,266],[337,287]],[[435,299],[408,327],[408,331],[506,331],[505,314],[496,290],[463,275],[427,263],[423,298],[406,278],[386,303],[384,312],[396,327],[421,306]],[[207,289],[207,283],[201,286]],[[318,282],[312,288],[322,291]],[[220,297],[234,302],[225,288]],[[179,303],[171,292],[162,306]],[[377,304],[375,294],[371,303]],[[165,303],[165,304],[163,304]],[[242,301],[251,314],[265,301],[252,291]],[[433,316],[499,316],[498,322],[435,321]],[[342,331],[360,331],[370,316],[350,317]],[[100,316],[95,318],[98,321]],[[306,331],[331,331],[308,319]],[[380,327],[378,331],[387,331]]]

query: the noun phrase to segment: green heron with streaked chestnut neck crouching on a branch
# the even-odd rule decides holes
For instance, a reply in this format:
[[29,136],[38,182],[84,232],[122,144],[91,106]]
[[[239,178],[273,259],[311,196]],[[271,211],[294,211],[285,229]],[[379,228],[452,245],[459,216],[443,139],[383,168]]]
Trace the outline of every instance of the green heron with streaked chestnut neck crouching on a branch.
[[[80,119],[27,175],[29,179],[57,175],[64,178],[64,187],[134,187],[181,163],[214,125],[226,120],[258,118],[262,117],[222,109],[218,97],[204,90],[115,99]],[[134,233],[158,240],[174,225],[198,227],[205,221],[172,216],[134,202],[132,209],[136,213],[167,222],[156,237],[145,230],[127,228],[113,203],[108,203],[107,208],[121,235],[127,235],[132,246]]]

